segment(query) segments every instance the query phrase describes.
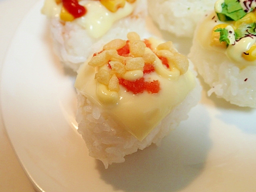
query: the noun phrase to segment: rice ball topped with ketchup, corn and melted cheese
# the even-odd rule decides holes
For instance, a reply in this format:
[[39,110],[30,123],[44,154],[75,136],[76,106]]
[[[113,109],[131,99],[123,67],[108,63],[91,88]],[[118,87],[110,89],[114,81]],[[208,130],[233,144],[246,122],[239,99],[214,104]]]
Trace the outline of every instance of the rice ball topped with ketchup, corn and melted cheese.
[[76,71],[88,56],[130,31],[144,34],[146,0],[45,0],[54,51]]

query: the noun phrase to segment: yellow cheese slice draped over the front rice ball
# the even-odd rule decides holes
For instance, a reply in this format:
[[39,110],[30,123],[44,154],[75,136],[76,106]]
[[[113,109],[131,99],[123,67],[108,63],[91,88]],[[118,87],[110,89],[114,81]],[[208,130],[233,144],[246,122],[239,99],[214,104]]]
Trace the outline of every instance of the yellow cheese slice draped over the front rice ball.
[[[156,40],[150,40],[154,41],[152,45],[156,44]],[[158,44],[160,43],[158,41]],[[149,51],[148,48],[145,50]],[[120,86],[118,92],[109,91],[106,85],[97,82],[95,74],[99,71],[99,67],[88,65],[89,61],[90,59],[78,70],[76,89],[91,102],[100,106],[102,114],[114,119],[120,128],[128,130],[140,141],[195,87],[195,76],[190,70],[181,75],[179,72],[175,78],[170,78],[166,72],[159,74],[155,71],[146,74],[144,78],[160,82],[160,91],[157,94],[148,92],[133,94],[127,92],[123,86]],[[99,85],[104,88],[99,88]],[[101,94],[102,98],[99,97],[99,90],[104,90]],[[111,102],[113,98],[117,101]]]

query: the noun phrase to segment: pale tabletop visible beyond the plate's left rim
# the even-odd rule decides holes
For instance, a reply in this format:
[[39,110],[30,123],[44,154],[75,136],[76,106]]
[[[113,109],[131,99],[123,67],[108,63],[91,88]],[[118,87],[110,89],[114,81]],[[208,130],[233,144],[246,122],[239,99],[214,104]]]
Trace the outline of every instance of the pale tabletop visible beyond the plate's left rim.
[[[0,71],[16,29],[38,0],[0,0]],[[1,111],[0,111],[1,113]],[[0,192],[35,192],[12,149],[0,114]]]

